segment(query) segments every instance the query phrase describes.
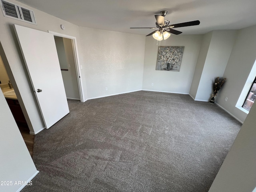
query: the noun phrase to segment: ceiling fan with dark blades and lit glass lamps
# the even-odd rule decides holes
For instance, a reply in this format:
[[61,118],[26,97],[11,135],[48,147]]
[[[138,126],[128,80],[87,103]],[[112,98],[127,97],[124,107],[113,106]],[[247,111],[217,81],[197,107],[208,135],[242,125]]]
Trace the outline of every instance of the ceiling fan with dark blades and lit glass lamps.
[[178,23],[178,24],[171,24],[169,25],[170,21],[164,20],[164,16],[166,16],[167,11],[161,11],[161,15],[155,15],[156,18],[156,27],[130,27],[130,29],[155,29],[158,28],[158,30],[153,31],[152,33],[146,35],[150,36],[153,35],[154,39],[161,41],[170,37],[171,33],[178,35],[182,32],[174,30],[173,28],[178,27],[187,27],[187,26],[194,26],[199,25],[200,21],[190,21],[190,22],[184,22],[184,23]]

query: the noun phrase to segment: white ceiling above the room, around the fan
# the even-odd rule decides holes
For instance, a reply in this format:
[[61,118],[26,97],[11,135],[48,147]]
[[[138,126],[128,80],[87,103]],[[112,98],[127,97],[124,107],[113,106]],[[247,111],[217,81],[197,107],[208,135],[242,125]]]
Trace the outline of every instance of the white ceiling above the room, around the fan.
[[170,24],[200,20],[199,26],[176,28],[182,34],[241,29],[256,24],[256,0],[18,0],[48,14],[89,28],[149,34],[154,15],[167,10]]

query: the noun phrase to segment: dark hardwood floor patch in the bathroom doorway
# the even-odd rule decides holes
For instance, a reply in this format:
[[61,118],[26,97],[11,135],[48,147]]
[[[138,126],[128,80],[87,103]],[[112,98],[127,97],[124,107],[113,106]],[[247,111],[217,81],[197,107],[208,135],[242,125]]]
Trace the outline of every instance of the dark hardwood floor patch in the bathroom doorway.
[[25,144],[28,148],[28,151],[31,155],[31,157],[33,156],[33,147],[34,147],[34,135],[30,135],[29,134],[29,128],[26,125],[22,125],[22,124],[18,124],[18,128],[20,130],[20,133],[22,134],[22,137],[25,141]]

